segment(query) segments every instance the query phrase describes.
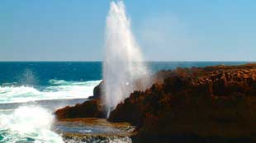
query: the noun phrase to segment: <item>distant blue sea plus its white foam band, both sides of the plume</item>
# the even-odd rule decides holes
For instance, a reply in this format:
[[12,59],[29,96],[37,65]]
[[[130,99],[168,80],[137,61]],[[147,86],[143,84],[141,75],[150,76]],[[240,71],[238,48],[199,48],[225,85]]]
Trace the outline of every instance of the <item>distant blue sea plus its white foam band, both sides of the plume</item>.
[[[246,62],[146,62],[151,72]],[[85,99],[102,81],[102,62],[0,62],[0,104]],[[1,109],[1,106],[0,106]]]

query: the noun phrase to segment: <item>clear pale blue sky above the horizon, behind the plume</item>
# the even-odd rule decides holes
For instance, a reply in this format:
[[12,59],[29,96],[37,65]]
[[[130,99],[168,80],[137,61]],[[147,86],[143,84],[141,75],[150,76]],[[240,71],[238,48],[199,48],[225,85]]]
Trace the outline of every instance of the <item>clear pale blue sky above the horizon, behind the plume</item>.
[[[1,0],[0,61],[99,61],[107,0]],[[256,61],[254,0],[125,0],[150,61]]]

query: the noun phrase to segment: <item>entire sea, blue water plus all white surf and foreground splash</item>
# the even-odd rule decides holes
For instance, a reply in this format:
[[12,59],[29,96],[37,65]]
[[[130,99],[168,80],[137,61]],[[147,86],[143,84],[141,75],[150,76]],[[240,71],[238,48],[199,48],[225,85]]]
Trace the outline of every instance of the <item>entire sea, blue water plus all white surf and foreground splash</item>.
[[[146,62],[149,70],[246,62]],[[82,103],[102,81],[102,62],[0,62],[0,143],[62,142],[56,108]]]

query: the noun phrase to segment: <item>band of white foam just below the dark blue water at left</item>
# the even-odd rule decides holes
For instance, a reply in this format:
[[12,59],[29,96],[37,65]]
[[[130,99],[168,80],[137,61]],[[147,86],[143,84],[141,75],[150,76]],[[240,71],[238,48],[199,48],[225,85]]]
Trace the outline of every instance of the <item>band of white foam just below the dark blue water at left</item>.
[[0,86],[0,104],[46,99],[85,99],[101,81],[50,81],[52,86],[37,90],[30,86]]

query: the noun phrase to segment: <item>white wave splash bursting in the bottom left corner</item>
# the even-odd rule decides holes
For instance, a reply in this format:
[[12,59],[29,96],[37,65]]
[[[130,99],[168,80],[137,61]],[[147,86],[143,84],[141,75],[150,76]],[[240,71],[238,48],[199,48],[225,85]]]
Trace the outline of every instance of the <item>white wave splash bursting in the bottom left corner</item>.
[[50,131],[54,116],[38,106],[24,106],[12,113],[0,114],[0,142],[61,143],[62,138]]

